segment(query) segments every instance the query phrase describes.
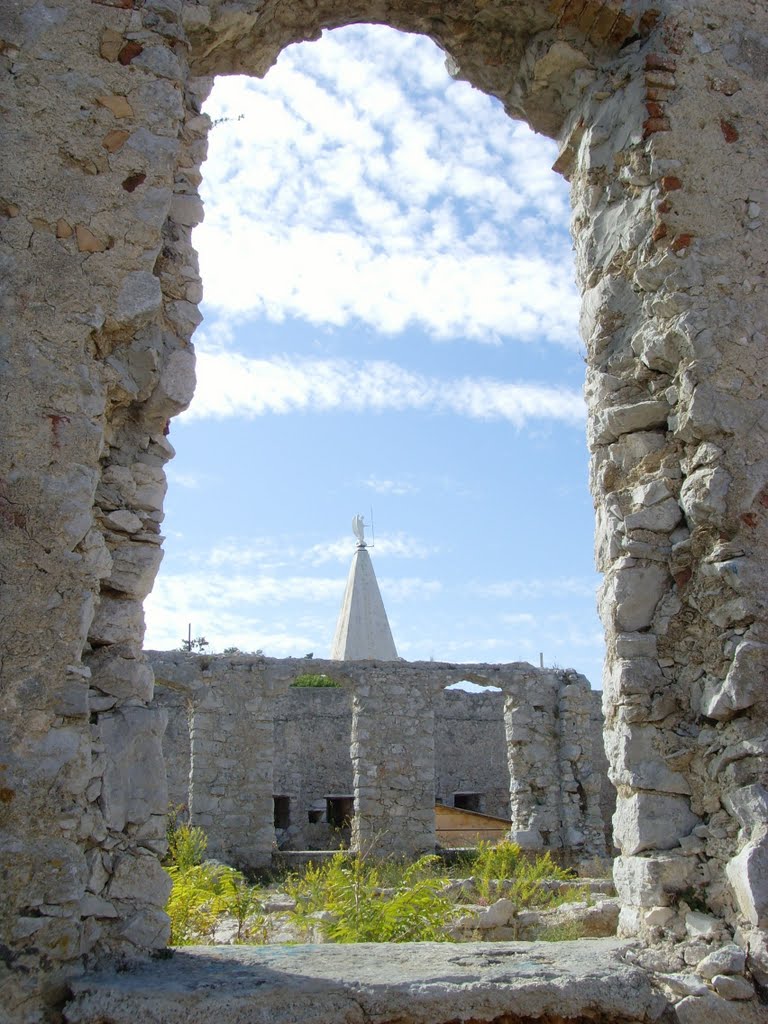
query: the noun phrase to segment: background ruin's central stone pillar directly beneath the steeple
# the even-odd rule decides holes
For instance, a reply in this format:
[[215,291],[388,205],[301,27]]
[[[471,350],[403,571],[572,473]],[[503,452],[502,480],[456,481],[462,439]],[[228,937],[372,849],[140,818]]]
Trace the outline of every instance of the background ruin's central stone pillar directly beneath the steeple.
[[432,853],[433,684],[404,665],[346,665],[353,681],[353,848],[377,856]]

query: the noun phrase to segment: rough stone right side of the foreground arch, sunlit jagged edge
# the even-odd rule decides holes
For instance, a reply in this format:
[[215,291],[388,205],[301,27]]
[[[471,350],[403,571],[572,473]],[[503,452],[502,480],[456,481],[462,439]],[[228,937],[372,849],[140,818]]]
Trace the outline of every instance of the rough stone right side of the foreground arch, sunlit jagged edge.
[[[762,948],[768,12],[670,4],[574,109],[596,553],[621,930],[684,890]],[[756,961],[757,964],[757,961]]]

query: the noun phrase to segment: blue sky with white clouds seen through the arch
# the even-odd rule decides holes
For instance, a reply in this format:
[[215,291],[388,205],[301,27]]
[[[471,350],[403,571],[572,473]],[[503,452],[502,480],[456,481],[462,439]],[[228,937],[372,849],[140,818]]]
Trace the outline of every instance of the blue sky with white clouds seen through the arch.
[[408,659],[599,685],[568,199],[429,40],[355,27],[217,81],[198,390],[146,646],[330,649],[371,507]]

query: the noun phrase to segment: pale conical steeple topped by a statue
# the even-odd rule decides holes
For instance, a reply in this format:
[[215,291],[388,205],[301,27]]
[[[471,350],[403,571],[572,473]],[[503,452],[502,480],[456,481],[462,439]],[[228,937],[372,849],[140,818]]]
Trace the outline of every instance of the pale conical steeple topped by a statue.
[[361,662],[368,658],[393,662],[397,658],[397,651],[368,553],[362,516],[354,517],[352,531],[357,538],[357,548],[349,567],[331,658],[334,662]]

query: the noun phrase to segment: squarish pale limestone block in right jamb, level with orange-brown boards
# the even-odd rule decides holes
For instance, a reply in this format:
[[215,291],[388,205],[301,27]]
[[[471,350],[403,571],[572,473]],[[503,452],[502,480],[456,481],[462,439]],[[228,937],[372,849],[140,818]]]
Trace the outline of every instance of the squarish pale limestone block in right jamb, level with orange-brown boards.
[[628,856],[642,850],[671,850],[698,822],[685,797],[641,792],[617,797],[613,838]]

